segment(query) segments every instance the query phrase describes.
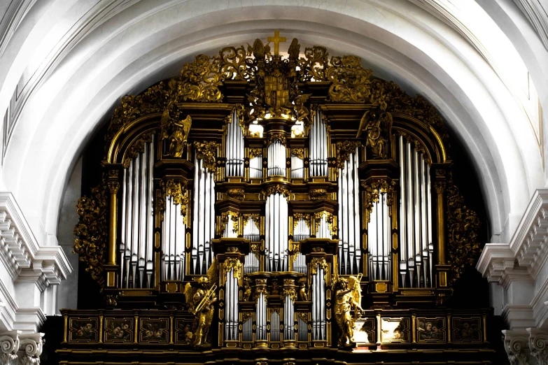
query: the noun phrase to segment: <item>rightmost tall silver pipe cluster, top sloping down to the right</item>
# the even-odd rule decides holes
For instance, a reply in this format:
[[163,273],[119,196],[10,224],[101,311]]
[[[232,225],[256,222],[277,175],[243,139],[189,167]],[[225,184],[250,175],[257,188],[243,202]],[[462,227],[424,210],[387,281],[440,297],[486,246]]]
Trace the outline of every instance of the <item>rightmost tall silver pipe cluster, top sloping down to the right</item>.
[[432,287],[432,197],[430,166],[403,136],[400,163],[400,277],[402,287]]

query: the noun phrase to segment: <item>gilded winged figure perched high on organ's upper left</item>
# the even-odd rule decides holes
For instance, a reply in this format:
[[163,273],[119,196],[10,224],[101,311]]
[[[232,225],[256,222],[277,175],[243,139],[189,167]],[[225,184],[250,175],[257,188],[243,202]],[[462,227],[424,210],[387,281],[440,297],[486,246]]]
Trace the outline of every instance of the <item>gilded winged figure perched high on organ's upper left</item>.
[[169,103],[162,113],[162,141],[167,139],[167,155],[170,157],[182,157],[183,149],[188,144],[188,134],[192,118],[187,115],[182,119],[181,110],[174,103]]

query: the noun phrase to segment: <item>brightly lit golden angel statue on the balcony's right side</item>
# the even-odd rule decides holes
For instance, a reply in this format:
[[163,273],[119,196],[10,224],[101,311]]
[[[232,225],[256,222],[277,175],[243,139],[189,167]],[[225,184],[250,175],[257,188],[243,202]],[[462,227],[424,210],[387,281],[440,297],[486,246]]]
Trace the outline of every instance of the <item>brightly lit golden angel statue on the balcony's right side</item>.
[[[358,278],[353,278],[354,287],[349,289],[349,280],[345,278],[337,278],[334,284],[335,290],[335,319],[339,325],[341,336],[339,337],[339,347],[353,347],[354,342],[354,320],[350,315],[351,308],[356,311],[363,310],[360,303],[356,302],[354,294],[356,293],[356,282]],[[361,296],[361,294],[359,294]]]

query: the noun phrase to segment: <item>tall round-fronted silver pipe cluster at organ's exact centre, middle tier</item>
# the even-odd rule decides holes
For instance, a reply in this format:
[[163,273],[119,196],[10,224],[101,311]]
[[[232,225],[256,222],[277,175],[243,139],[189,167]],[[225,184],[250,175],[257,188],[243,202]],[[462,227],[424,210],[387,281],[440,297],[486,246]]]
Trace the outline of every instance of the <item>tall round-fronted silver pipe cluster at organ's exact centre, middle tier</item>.
[[282,194],[267,197],[265,225],[267,271],[288,271],[288,202]]

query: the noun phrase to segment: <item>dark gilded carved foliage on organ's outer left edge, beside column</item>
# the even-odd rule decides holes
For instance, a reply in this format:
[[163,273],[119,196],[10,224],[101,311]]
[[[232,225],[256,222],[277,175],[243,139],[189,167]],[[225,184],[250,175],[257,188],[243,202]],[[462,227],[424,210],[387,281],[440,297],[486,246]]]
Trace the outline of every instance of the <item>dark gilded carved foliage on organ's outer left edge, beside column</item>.
[[104,286],[103,265],[105,263],[106,242],[108,234],[107,184],[103,182],[91,191],[90,197],[78,199],[76,213],[78,224],[74,227],[73,252],[85,262],[85,271],[99,283],[101,291]]

